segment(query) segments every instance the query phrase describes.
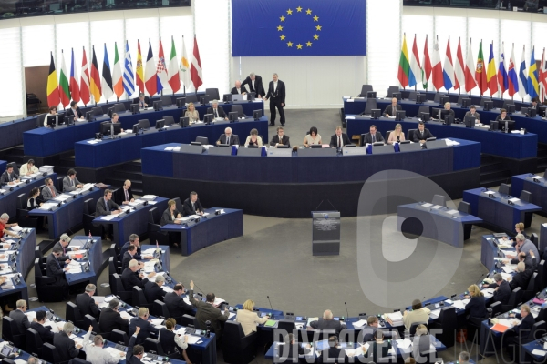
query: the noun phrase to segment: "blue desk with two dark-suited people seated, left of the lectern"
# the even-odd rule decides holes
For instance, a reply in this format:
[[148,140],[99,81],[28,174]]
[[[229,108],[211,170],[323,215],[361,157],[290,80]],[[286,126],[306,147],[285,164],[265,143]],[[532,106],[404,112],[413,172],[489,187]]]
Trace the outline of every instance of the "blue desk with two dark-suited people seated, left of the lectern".
[[[179,224],[168,224],[161,227],[162,231],[182,233],[181,253],[190,256],[196,251],[231,238],[243,236],[243,210],[223,208],[225,214],[214,215],[214,211],[221,207],[212,207],[205,210],[207,218],[185,227]],[[163,211],[161,211],[163,213]]]

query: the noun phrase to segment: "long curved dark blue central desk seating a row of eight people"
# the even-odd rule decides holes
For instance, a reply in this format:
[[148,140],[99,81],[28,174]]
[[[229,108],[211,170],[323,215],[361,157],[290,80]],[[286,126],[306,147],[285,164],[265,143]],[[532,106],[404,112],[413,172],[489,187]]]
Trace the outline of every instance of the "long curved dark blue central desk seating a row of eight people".
[[457,142],[454,147],[392,149],[387,154],[375,154],[373,148],[372,155],[325,156],[325,149],[312,149],[317,157],[286,149],[291,157],[247,157],[241,155],[243,148],[236,156],[212,155],[211,150],[192,154],[172,150],[181,145],[165,144],[141,149],[143,187],[147,194],[181,199],[196,191],[205,206],[239,208],[253,215],[309,217],[321,201],[329,200],[342,216],[356,216],[363,184],[380,171],[403,169],[429,177],[454,198],[477,187],[480,144]]

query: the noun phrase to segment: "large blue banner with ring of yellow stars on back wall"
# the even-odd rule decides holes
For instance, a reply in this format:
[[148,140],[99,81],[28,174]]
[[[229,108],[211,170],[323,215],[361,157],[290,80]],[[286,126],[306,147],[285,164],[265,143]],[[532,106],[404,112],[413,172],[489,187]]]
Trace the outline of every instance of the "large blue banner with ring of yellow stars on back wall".
[[232,0],[232,56],[366,56],[364,0]]

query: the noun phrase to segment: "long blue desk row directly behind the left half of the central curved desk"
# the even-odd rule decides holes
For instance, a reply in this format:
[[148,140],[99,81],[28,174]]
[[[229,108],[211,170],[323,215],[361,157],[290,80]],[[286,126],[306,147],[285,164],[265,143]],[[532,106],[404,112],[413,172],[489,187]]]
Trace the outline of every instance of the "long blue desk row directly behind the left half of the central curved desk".
[[197,136],[207,136],[209,143],[214,144],[224,134],[226,127],[232,127],[232,134],[238,135],[240,141],[250,135],[252,129],[257,129],[258,134],[267,139],[268,118],[263,116],[255,121],[249,118],[231,124],[200,125],[191,127],[171,126],[158,131],[150,129],[144,134],[134,136],[132,134],[118,139],[104,139],[98,144],[89,144],[88,141],[77,142],[74,145],[77,167],[100,168],[129,162],[140,158],[140,149],[143,147],[158,146],[165,143],[190,144]]

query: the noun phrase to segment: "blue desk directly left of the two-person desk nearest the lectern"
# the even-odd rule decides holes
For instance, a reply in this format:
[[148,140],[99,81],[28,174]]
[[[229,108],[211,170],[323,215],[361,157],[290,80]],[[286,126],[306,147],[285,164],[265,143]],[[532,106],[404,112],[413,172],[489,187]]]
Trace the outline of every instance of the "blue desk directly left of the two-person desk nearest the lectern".
[[131,210],[128,214],[123,214],[122,217],[115,217],[112,220],[103,220],[102,217],[96,217],[93,224],[113,225],[114,226],[114,242],[121,247],[129,241],[129,235],[142,235],[148,230],[149,211],[150,208],[156,207],[160,214],[167,209],[167,198],[156,197],[155,204],[147,206],[139,205],[137,210]]

